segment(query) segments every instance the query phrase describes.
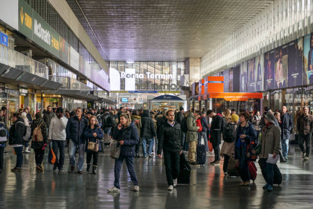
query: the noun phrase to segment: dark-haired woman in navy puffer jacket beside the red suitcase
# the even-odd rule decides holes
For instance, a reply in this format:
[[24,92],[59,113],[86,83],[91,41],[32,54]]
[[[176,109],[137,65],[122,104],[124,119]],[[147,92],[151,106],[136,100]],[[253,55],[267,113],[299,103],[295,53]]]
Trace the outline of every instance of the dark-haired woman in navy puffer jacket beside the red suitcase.
[[247,146],[251,141],[256,141],[256,131],[253,124],[249,121],[250,115],[247,112],[239,114],[239,124],[235,139],[235,159],[239,162],[240,186],[250,184],[250,173],[247,160]]

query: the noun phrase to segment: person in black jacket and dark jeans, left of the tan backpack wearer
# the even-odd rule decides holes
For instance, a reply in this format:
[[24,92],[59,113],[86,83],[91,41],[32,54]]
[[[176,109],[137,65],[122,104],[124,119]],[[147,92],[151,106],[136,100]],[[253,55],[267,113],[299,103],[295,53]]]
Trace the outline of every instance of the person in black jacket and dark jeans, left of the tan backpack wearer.
[[23,118],[20,118],[19,113],[13,113],[13,124],[10,128],[9,134],[9,144],[12,145],[14,152],[16,154],[16,164],[12,172],[20,171],[21,165],[23,164],[23,136],[26,131],[26,126],[24,124]]

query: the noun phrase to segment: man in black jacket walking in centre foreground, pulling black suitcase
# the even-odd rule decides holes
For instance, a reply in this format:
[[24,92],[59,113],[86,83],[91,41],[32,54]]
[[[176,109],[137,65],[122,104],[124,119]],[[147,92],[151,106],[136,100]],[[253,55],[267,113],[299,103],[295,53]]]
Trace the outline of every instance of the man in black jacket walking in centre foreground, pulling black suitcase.
[[167,121],[162,124],[159,133],[158,156],[162,159],[163,150],[166,179],[169,185],[167,190],[173,190],[180,172],[181,126],[174,120],[174,111],[167,111],[166,117]]

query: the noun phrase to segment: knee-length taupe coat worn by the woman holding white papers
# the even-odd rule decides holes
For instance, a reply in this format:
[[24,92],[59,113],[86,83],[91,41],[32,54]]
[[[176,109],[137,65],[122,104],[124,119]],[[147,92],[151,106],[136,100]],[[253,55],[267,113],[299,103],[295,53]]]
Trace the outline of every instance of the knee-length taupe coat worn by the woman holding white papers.
[[269,157],[269,154],[278,154],[280,144],[280,129],[272,124],[269,128],[264,127],[261,135],[260,158]]

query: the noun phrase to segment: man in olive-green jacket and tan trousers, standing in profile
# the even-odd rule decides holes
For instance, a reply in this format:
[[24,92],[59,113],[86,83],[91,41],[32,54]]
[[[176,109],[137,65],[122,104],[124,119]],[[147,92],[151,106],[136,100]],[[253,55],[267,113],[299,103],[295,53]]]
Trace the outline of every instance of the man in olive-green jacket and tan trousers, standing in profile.
[[189,143],[188,150],[188,161],[191,165],[198,165],[195,161],[195,151],[196,151],[196,141],[197,141],[197,131],[200,127],[197,127],[195,117],[198,114],[189,112],[187,115],[187,134],[186,140]]

